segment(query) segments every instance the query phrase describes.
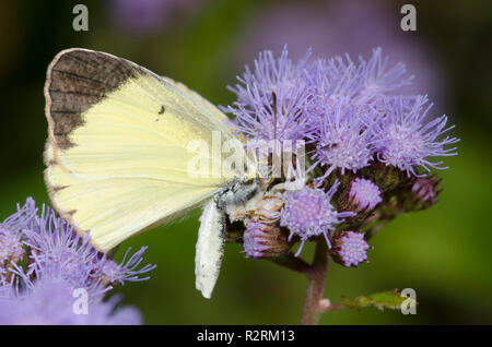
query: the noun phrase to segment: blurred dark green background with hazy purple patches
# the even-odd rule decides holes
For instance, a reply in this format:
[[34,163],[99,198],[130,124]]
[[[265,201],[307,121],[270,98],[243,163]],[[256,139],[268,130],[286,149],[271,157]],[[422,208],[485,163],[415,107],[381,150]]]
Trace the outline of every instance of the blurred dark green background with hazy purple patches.
[[[74,32],[72,8],[89,8],[89,32]],[[490,1],[411,1],[417,32],[402,32],[409,1],[115,0],[1,1],[0,218],[32,195],[47,200],[43,182],[45,71],[61,49],[84,47],[130,59],[184,82],[216,105],[233,101],[226,85],[261,49],[284,44],[297,59],[370,53],[382,46],[390,61],[408,62],[411,92],[429,94],[461,139],[446,159],[444,192],[432,208],[401,216],[372,241],[370,264],[330,264],[331,301],[391,288],[414,288],[415,315],[340,311],[323,324],[492,323]],[[347,4],[349,3],[349,4]],[[408,61],[407,61],[408,60]],[[435,115],[437,116],[437,113]],[[268,261],[245,259],[227,244],[212,300],[195,290],[194,256],[199,212],[126,241],[149,246],[157,264],[145,283],[115,292],[134,304],[148,324],[296,324],[306,280]],[[122,253],[121,251],[119,253]],[[303,252],[309,259],[312,249]],[[121,254],[118,254],[121,256]]]

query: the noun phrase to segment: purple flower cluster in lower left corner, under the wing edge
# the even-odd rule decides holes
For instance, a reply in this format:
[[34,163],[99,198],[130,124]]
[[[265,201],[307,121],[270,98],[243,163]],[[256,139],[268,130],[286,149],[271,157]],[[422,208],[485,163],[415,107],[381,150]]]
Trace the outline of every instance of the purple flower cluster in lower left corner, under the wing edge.
[[[51,208],[38,214],[28,198],[0,224],[0,324],[139,324],[136,309],[103,301],[114,285],[145,280],[140,275],[155,267],[138,268],[145,248],[129,251],[117,264]],[[77,290],[86,294],[84,314],[73,311]]]

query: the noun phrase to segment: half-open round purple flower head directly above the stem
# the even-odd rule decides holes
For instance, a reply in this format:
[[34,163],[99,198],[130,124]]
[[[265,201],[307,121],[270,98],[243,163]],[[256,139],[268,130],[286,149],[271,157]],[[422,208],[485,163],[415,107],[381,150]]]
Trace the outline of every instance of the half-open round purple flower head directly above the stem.
[[289,239],[294,234],[301,238],[302,244],[295,255],[301,253],[308,238],[321,234],[330,247],[328,231],[335,230],[335,226],[342,223],[343,218],[355,215],[353,212],[337,212],[331,205],[330,200],[337,188],[338,183],[328,192],[324,192],[321,189],[304,187],[285,193],[280,225],[291,231]]

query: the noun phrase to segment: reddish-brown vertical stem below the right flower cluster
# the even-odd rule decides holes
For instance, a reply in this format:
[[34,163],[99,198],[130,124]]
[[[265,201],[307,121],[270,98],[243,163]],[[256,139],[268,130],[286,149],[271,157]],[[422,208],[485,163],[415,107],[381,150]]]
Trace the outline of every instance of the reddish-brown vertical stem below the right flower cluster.
[[325,290],[326,271],[328,268],[329,253],[325,240],[316,244],[313,265],[307,274],[308,283],[304,311],[301,324],[316,325],[319,321],[319,301]]

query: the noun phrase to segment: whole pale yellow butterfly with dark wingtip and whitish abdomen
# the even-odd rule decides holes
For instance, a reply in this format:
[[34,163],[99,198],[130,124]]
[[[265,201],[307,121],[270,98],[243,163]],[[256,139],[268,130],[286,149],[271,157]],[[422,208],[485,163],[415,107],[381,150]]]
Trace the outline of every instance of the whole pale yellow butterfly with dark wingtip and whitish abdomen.
[[[203,205],[197,288],[210,297],[223,254],[226,208],[259,193],[255,170],[199,175],[190,166],[220,141],[237,141],[226,117],[180,83],[131,61],[68,49],[48,67],[45,181],[55,208],[107,252],[127,238]],[[200,157],[201,156],[201,157]],[[208,161],[207,161],[208,160]]]

